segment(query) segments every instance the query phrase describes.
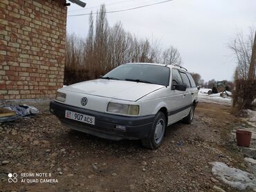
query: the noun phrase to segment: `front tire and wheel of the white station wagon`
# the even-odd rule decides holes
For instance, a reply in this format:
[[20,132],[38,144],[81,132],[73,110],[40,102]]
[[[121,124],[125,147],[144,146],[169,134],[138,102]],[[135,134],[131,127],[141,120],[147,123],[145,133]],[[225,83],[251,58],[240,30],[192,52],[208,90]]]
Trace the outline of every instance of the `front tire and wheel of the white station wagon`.
[[156,113],[156,117],[152,125],[152,130],[149,133],[148,137],[141,140],[143,146],[149,149],[156,149],[161,146],[163,142],[163,137],[165,136],[166,125],[167,124],[165,114],[159,111],[158,113]]

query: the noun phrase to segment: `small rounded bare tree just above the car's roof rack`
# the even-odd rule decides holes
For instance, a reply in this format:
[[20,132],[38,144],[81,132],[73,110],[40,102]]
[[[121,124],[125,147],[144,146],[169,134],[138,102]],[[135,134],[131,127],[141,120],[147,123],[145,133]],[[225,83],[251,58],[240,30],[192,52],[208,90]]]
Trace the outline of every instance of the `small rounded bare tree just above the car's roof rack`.
[[179,65],[181,66],[182,60],[181,55],[179,53],[179,50],[174,48],[173,46],[170,46],[170,48],[167,48],[163,51],[162,54],[162,63],[165,65]]

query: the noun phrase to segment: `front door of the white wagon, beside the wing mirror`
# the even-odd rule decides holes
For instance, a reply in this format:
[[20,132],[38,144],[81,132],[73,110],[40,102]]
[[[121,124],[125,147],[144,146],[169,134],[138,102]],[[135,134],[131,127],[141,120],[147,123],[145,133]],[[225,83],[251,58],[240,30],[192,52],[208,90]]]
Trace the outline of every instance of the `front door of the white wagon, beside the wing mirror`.
[[168,124],[173,124],[184,117],[183,108],[188,104],[188,97],[184,97],[186,91],[174,90],[173,86],[176,84],[183,84],[181,74],[178,69],[172,68],[172,80],[171,80],[171,90],[170,97],[168,99],[168,104],[170,109],[168,109]]

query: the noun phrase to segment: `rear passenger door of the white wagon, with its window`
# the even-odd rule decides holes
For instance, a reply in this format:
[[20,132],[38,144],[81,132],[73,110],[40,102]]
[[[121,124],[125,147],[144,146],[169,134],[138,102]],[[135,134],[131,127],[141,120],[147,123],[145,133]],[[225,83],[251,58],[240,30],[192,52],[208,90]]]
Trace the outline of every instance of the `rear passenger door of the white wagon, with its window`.
[[183,84],[186,84],[187,89],[185,90],[185,93],[183,94],[183,102],[184,102],[184,110],[183,110],[183,117],[187,116],[188,113],[190,113],[190,108],[192,104],[192,87],[190,84],[190,79],[188,79],[188,75],[185,71],[180,70],[181,78],[183,80]]

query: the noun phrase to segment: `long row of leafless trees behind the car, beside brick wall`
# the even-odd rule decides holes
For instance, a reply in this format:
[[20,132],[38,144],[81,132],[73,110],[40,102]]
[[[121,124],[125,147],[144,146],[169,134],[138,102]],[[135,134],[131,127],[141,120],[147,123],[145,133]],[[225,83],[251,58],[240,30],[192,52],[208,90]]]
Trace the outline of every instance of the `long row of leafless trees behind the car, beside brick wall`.
[[90,15],[86,39],[67,35],[65,84],[95,79],[128,62],[182,64],[176,48],[161,50],[156,41],[138,39],[125,31],[120,22],[109,26],[105,12],[103,5],[95,21]]

